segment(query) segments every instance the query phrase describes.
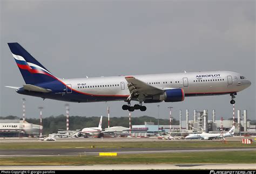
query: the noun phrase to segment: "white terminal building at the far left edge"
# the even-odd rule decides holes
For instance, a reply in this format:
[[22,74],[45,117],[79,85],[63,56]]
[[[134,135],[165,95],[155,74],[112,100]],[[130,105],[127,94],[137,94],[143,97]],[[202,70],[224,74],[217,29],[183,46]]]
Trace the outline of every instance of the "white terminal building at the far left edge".
[[23,120],[0,120],[0,137],[23,137],[39,135],[40,125]]

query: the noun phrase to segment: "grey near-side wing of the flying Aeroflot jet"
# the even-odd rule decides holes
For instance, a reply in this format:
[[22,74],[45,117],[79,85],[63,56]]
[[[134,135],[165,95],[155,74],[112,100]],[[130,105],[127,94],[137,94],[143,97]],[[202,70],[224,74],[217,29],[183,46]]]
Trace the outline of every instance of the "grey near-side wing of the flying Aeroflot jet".
[[134,78],[133,76],[126,76],[125,79],[128,82],[127,86],[131,95],[143,94],[147,96],[164,92],[163,89],[151,86],[144,81]]

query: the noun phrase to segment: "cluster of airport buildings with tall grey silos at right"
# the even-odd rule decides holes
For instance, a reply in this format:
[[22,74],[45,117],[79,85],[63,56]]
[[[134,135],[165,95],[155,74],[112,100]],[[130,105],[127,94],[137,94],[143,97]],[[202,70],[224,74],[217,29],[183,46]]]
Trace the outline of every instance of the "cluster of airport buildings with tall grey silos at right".
[[[171,133],[215,133],[220,131],[229,130],[233,123],[235,124],[235,134],[241,135],[250,133],[256,133],[256,126],[251,125],[250,121],[247,120],[247,110],[244,110],[243,119],[241,120],[240,113],[237,111],[237,119],[233,120],[216,120],[215,110],[212,110],[212,119],[208,119],[208,110],[193,111],[193,120],[189,120],[189,111],[186,109],[186,118],[182,119],[182,112],[179,110],[179,125],[171,125]],[[246,120],[246,121],[245,121]],[[169,133],[170,125],[154,125],[153,122],[145,122],[144,125],[134,125],[132,129],[147,129],[149,135],[157,133]],[[144,133],[142,131],[142,133]]]

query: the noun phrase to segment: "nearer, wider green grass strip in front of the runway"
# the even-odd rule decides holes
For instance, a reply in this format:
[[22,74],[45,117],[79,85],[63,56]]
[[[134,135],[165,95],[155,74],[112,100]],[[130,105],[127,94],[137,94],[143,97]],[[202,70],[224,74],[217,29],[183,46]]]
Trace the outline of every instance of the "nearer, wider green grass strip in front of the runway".
[[256,163],[256,151],[190,152],[102,156],[52,156],[0,158],[0,165],[92,165],[92,164],[184,164],[184,163]]

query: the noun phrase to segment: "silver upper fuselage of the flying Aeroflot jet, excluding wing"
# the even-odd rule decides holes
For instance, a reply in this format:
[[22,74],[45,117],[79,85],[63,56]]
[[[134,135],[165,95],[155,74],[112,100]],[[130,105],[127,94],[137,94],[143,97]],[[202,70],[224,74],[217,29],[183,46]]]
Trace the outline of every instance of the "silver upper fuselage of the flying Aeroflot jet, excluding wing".
[[[132,76],[151,86],[156,86],[161,89],[182,88],[185,92],[185,96],[228,94],[240,92],[251,85],[251,82],[245,79],[244,76],[230,71]],[[130,95],[125,76],[63,79],[62,81],[72,88],[72,91],[70,88],[67,88],[67,93],[78,92],[91,96],[120,97],[127,97]]]

